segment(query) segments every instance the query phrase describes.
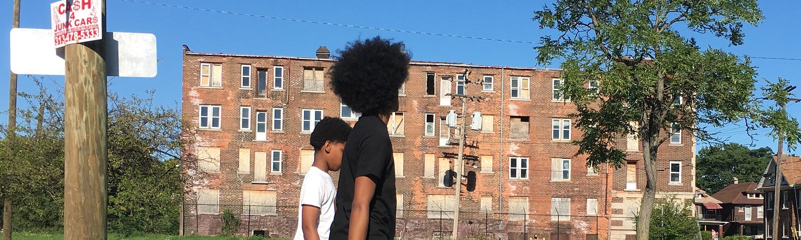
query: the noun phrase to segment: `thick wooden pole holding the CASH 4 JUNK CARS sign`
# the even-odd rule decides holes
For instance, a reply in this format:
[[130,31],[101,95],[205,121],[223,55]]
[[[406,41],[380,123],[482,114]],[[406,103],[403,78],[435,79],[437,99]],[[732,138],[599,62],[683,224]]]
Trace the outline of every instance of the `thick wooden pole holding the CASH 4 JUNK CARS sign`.
[[[106,1],[101,34],[106,33]],[[64,239],[107,238],[104,40],[65,46]]]

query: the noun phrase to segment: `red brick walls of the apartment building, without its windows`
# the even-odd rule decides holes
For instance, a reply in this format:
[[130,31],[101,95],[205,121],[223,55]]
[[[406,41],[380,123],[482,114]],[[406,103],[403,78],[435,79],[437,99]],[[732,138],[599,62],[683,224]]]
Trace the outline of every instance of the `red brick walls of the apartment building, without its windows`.
[[[200,86],[201,64],[221,64],[221,86]],[[230,209],[235,214],[243,212],[244,190],[274,191],[276,194],[277,216],[246,216],[243,219],[241,234],[252,234],[252,230],[267,230],[269,233],[291,238],[295,232],[297,216],[297,199],[300,183],[303,179],[300,166],[300,151],[312,150],[308,144],[308,133],[301,131],[302,110],[323,110],[325,116],[340,117],[340,102],[328,85],[325,75],[324,92],[304,91],[304,68],[322,68],[324,72],[332,65],[329,59],[321,58],[288,58],[276,56],[253,56],[237,54],[203,54],[186,51],[183,55],[183,116],[187,123],[199,126],[199,106],[219,106],[219,129],[199,129],[196,134],[187,134],[194,139],[186,146],[185,153],[197,153],[198,147],[219,147],[219,173],[206,173],[188,188],[183,211],[183,234],[217,234],[221,226],[219,215],[196,214],[197,191],[199,189],[219,190],[219,210]],[[251,88],[241,86],[241,66],[250,65]],[[283,89],[273,89],[273,67],[283,67]],[[256,86],[259,78],[257,70],[267,70],[266,98],[258,98]],[[405,83],[405,94],[399,96],[400,110],[404,113],[403,134],[392,136],[392,146],[396,153],[403,153],[403,174],[396,179],[398,194],[402,194],[404,212],[398,219],[398,238],[431,238],[439,230],[449,235],[453,222],[450,219],[431,217],[426,210],[429,206],[429,195],[453,196],[453,188],[441,187],[440,178],[425,175],[427,163],[425,154],[433,154],[435,173],[441,173],[439,158],[444,154],[457,154],[457,146],[440,146],[441,124],[449,110],[461,111],[461,100],[450,100],[449,106],[441,105],[442,77],[449,76],[447,81],[451,93],[457,92],[457,74],[472,70],[471,81],[481,81],[485,76],[493,77],[491,90],[483,90],[481,84],[467,84],[466,94],[484,97],[481,102],[468,101],[467,115],[480,111],[487,116],[492,115],[492,130],[467,130],[467,142],[478,149],[466,148],[465,154],[480,157],[478,161],[466,161],[465,171],[473,170],[477,174],[477,186],[474,191],[462,189],[460,237],[473,234],[489,233],[493,238],[555,238],[554,234],[562,234],[570,239],[590,239],[597,234],[598,238],[606,238],[626,234],[632,228],[625,229],[628,221],[622,210],[625,198],[642,195],[645,186],[645,173],[642,166],[642,154],[630,153],[632,162],[636,162],[638,190],[626,190],[626,168],[614,170],[601,166],[599,174],[588,173],[586,160],[574,157],[577,146],[569,141],[552,139],[553,119],[569,119],[574,112],[570,102],[553,100],[553,79],[561,74],[559,70],[475,66],[461,63],[445,62],[412,62],[409,68],[409,79]],[[434,75],[434,94],[426,94],[427,74]],[[516,78],[516,87],[511,86]],[[523,97],[525,84],[521,78],[529,78],[529,98],[512,98],[512,90]],[[240,107],[249,106],[250,130],[240,130]],[[272,131],[272,109],[284,109],[283,131]],[[266,141],[256,139],[256,111],[267,111]],[[435,114],[433,136],[425,135],[426,114]],[[529,119],[528,139],[512,139],[511,134],[521,134],[510,126],[513,117]],[[470,121],[472,118],[466,118]],[[356,122],[356,119],[348,120]],[[517,121],[517,120],[515,120]],[[469,128],[469,123],[468,128]],[[517,122],[516,124],[518,124]],[[562,130],[562,129],[560,129]],[[561,131],[560,133],[562,133]],[[524,132],[525,133],[525,132]],[[451,132],[453,135],[453,132]],[[570,126],[570,140],[581,137],[581,132]],[[455,138],[451,138],[453,140]],[[694,186],[694,138],[691,134],[682,134],[682,144],[665,144],[659,151],[658,191],[678,195],[687,194],[692,197]],[[626,140],[620,142],[626,146]],[[248,173],[239,173],[239,149],[248,149]],[[280,173],[271,173],[272,150],[281,150]],[[266,152],[267,169],[256,169],[256,152]],[[491,171],[481,171],[481,156],[492,157]],[[526,177],[510,179],[510,158],[528,158]],[[569,180],[553,181],[552,178],[562,176],[562,162],[552,158],[570,159]],[[561,160],[555,160],[561,161]],[[670,161],[682,162],[680,183],[669,183]],[[453,167],[453,158],[449,168]],[[431,162],[429,162],[431,163]],[[521,166],[521,162],[516,162]],[[556,168],[553,168],[553,166]],[[396,166],[398,168],[398,166]],[[489,167],[484,166],[485,169]],[[557,174],[552,174],[552,170]],[[607,173],[607,169],[610,170]],[[257,171],[266,171],[264,182],[254,182]],[[194,170],[187,174],[200,176]],[[521,171],[516,171],[521,176]],[[336,173],[332,176],[335,178]],[[500,194],[499,194],[500,193]],[[491,208],[482,211],[481,197],[491,199]],[[524,201],[524,209],[512,209],[512,212],[527,212],[528,215],[509,221],[509,199]],[[570,218],[558,219],[551,216],[552,198],[570,198]],[[588,214],[588,198],[596,199],[597,214]],[[400,201],[401,198],[399,198]],[[521,200],[522,199],[522,200]],[[614,201],[613,201],[614,200]],[[589,204],[592,205],[592,204]],[[520,205],[515,205],[520,206]],[[484,213],[488,211],[489,213]],[[272,215],[272,214],[270,214]],[[552,220],[553,219],[553,220]],[[248,223],[249,222],[249,223]],[[248,224],[248,229],[245,225]],[[441,224],[441,228],[440,228]],[[521,235],[522,234],[522,235]]]

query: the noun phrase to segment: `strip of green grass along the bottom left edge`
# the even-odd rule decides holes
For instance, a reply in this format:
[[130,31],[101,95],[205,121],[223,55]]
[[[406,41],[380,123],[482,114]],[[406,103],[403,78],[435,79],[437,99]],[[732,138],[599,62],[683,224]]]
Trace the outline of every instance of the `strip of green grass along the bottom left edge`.
[[[63,234],[31,234],[31,233],[14,233],[12,234],[14,240],[62,240]],[[125,238],[120,234],[108,234],[108,240],[260,240],[267,239],[261,237],[222,237],[222,236],[174,236],[174,235],[161,235],[161,234],[134,234],[131,237]]]

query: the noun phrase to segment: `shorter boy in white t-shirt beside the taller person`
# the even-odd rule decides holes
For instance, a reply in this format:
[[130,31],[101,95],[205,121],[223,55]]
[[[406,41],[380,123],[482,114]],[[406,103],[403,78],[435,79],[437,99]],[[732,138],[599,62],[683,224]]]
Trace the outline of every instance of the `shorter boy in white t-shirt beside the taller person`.
[[336,199],[336,188],[328,171],[340,170],[350,130],[350,125],[340,118],[325,117],[315,126],[309,141],[314,147],[314,162],[300,187],[295,240],[328,239]]

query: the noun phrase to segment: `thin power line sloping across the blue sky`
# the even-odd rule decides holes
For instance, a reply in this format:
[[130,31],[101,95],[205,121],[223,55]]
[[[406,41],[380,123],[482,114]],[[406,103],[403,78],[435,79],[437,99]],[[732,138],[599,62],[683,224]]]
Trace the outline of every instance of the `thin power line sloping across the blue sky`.
[[[368,29],[368,30],[382,30],[382,31],[406,33],[406,34],[423,34],[423,35],[441,36],[441,37],[448,37],[448,38],[467,38],[467,39],[477,39],[477,40],[486,40],[486,41],[495,41],[495,42],[515,42],[515,43],[525,43],[525,44],[539,45],[539,43],[537,43],[537,42],[528,42],[528,41],[519,41],[519,40],[507,40],[507,39],[500,39],[500,38],[481,38],[481,37],[461,36],[461,35],[453,35],[453,34],[437,34],[437,33],[428,33],[428,32],[418,32],[418,31],[412,31],[412,30],[396,30],[396,29],[372,27],[372,26],[357,26],[357,25],[340,24],[340,23],[332,23],[332,22],[309,21],[309,20],[294,19],[294,18],[280,18],[280,17],[272,17],[272,16],[256,15],[256,14],[235,13],[235,12],[229,12],[229,11],[223,11],[223,10],[211,10],[211,9],[204,9],[204,8],[191,7],[191,6],[178,6],[178,5],[164,4],[164,3],[158,3],[158,2],[145,2],[145,1],[138,1],[138,0],[119,0],[119,1],[136,2],[136,3],[149,4],[149,5],[154,5],[154,6],[167,6],[167,7],[182,8],[182,9],[187,9],[187,10],[199,10],[199,11],[206,11],[206,12],[211,12],[211,13],[218,13],[218,14],[232,14],[232,15],[255,17],[255,18],[270,18],[270,19],[290,21],[290,22],[313,23],[313,24],[328,25],[328,26],[344,26],[344,27],[353,27],[353,28]],[[743,56],[739,56],[739,57],[744,58],[746,56],[743,55]],[[801,61],[801,58],[772,58],[772,57],[754,57],[754,56],[749,56],[748,58]]]

